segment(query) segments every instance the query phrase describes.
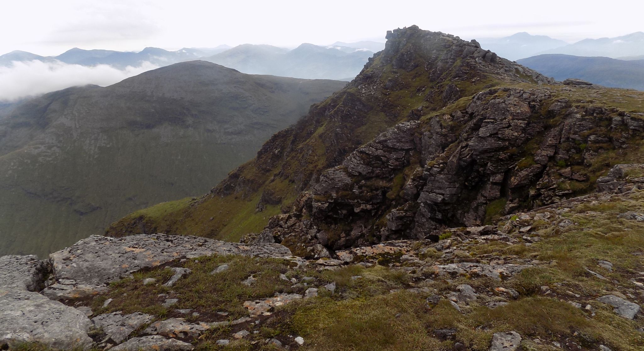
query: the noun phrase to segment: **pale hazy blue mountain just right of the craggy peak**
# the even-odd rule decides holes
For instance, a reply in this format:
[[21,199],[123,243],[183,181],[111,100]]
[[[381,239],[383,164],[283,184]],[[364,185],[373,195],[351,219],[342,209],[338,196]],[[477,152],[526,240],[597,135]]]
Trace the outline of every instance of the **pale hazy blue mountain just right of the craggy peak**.
[[553,39],[546,35],[530,35],[526,32],[515,33],[509,37],[495,39],[480,39],[478,42],[482,48],[497,53],[509,60],[518,60],[530,57],[538,52],[551,50],[567,43],[559,39]]

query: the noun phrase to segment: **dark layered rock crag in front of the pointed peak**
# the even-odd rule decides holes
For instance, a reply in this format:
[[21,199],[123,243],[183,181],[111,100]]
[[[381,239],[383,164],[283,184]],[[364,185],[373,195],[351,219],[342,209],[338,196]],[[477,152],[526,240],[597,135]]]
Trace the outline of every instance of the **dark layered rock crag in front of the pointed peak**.
[[[324,249],[482,225],[591,192],[588,166],[636,140],[639,119],[617,109],[574,108],[557,93],[495,88],[464,109],[398,124],[324,171],[261,235],[319,257]],[[628,172],[644,175],[638,166],[618,166],[598,180],[599,190],[623,187]]]

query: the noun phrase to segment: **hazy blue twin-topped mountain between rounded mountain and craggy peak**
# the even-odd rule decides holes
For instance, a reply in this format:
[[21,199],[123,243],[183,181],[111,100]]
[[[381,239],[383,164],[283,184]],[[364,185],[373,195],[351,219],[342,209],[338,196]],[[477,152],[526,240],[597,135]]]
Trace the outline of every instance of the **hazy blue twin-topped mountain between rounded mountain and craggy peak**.
[[243,44],[204,60],[244,73],[306,79],[349,79],[362,70],[373,52],[301,44],[293,50]]

